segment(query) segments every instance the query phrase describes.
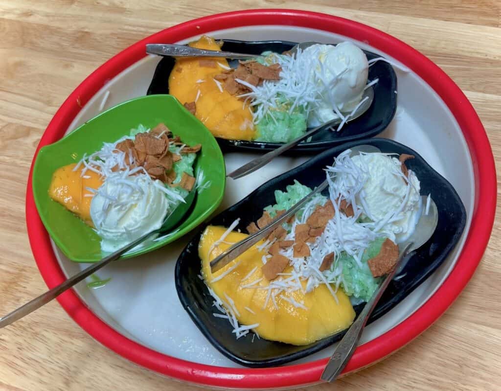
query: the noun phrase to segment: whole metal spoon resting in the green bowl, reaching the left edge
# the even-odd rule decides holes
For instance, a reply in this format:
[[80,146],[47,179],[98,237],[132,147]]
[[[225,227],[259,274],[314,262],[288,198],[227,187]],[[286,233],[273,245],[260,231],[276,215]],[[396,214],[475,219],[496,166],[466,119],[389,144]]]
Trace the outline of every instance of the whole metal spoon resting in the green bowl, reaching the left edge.
[[23,316],[26,316],[32,313],[33,311],[39,309],[52,299],[58,297],[61,293],[63,293],[67,289],[71,288],[72,286],[84,280],[85,278],[89,277],[91,274],[97,272],[103,266],[108,265],[109,263],[117,260],[123,253],[136,247],[138,244],[148,239],[151,235],[159,234],[172,228],[176,223],[178,223],[183,218],[185,213],[190,208],[195,198],[195,193],[196,189],[195,187],[193,187],[193,189],[188,193],[188,195],[184,199],[185,202],[179,204],[176,208],[174,208],[174,210],[168,216],[165,217],[162,227],[160,227],[157,230],[148,232],[147,234],[144,234],[140,238],[129,243],[127,246],[122,247],[121,249],[103,258],[101,261],[89,266],[87,269],[82,270],[80,273],[75,274],[73,277],[70,277],[65,282],[59,284],[58,286],[55,286],[54,288],[48,290],[44,294],[22,305],[21,307],[7,314],[3,318],[0,318],[0,328],[8,326],[9,324],[15,322],[16,320],[21,319]]

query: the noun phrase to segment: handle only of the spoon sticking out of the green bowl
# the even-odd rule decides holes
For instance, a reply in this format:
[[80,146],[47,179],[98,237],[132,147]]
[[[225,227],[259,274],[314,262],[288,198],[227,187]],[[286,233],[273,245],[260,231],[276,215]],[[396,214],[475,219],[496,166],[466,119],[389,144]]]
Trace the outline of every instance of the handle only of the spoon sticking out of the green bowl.
[[88,268],[86,268],[86,269],[82,270],[81,272],[75,274],[74,276],[70,277],[65,282],[59,284],[58,286],[55,286],[54,288],[48,290],[44,294],[36,297],[35,299],[29,301],[28,303],[22,305],[21,307],[12,311],[11,313],[7,314],[3,318],[0,318],[0,328],[8,326],[9,324],[15,322],[16,320],[21,319],[23,316],[26,316],[26,315],[32,313],[33,311],[39,309],[40,307],[47,304],[52,299],[55,299],[56,297],[58,297],[61,293],[63,293],[67,289],[71,288],[72,286],[79,283],[83,279],[89,277],[92,273],[97,272],[103,266],[120,258],[120,256],[123,253],[125,253],[125,252],[129,251],[130,249],[132,249],[133,247],[137,246],[139,243],[144,241],[150,235],[155,234],[157,231],[158,230],[153,231],[153,232],[148,232],[147,234],[141,236],[139,239],[136,239],[134,242],[129,243],[127,246],[124,246],[121,249],[115,251],[114,253],[108,255],[107,257],[103,258],[101,261],[99,261],[95,264],[92,264]]

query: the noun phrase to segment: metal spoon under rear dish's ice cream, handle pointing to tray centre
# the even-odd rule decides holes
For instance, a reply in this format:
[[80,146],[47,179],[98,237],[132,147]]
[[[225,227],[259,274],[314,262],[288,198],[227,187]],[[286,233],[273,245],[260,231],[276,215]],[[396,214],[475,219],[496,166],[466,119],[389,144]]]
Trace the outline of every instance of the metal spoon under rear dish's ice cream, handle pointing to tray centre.
[[[372,101],[374,100],[374,90],[371,87],[367,88],[364,91],[364,95],[362,96],[362,100],[364,100],[363,103],[358,107],[358,110],[355,111],[350,118],[348,119],[347,122],[350,122],[358,117],[360,117],[362,114],[364,114],[369,107],[372,105]],[[237,179],[241,178],[242,176],[245,176],[247,174],[250,174],[251,172],[254,172],[258,170],[259,168],[263,167],[264,165],[268,164],[270,161],[272,161],[275,157],[281,155],[285,151],[291,149],[292,147],[298,145],[301,141],[306,140],[308,137],[313,136],[315,133],[322,129],[330,128],[334,125],[338,125],[341,123],[341,118],[336,118],[333,119],[332,121],[323,123],[320,126],[317,126],[316,128],[313,128],[312,130],[306,132],[302,136],[299,136],[295,140],[292,140],[288,142],[287,144],[284,144],[277,149],[274,149],[273,151],[270,151],[268,153],[265,153],[264,155],[257,157],[254,160],[249,161],[248,163],[242,165],[240,168],[237,168],[236,170],[230,172],[226,176]]]

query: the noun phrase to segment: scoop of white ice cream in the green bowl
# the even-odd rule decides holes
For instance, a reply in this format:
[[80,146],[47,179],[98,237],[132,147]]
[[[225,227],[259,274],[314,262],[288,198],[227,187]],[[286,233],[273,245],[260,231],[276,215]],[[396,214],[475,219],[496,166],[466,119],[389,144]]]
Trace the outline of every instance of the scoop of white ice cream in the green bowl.
[[91,202],[91,218],[104,252],[116,251],[161,227],[168,201],[158,185],[163,183],[137,175],[107,178],[99,187]]

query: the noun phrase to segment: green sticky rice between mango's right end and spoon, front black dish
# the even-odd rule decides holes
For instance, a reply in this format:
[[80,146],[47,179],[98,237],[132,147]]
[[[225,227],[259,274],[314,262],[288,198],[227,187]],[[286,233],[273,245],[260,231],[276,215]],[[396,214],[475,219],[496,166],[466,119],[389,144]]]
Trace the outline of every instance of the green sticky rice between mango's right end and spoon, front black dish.
[[355,296],[364,301],[368,301],[372,297],[379,285],[380,278],[374,278],[372,276],[367,261],[379,254],[385,239],[386,238],[376,239],[364,251],[362,256],[362,267],[357,264],[352,256],[345,252],[339,254],[331,270],[334,270],[339,263],[343,265],[341,287],[348,296]]

